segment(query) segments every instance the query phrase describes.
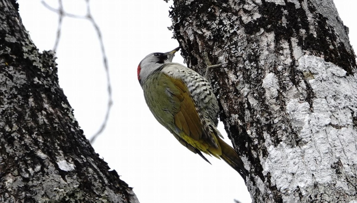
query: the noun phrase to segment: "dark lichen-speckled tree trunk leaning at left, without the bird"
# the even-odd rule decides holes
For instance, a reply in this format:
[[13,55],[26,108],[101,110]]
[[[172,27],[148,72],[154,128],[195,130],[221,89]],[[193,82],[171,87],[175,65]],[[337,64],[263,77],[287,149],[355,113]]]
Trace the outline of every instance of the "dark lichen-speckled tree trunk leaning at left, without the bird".
[[138,202],[83,135],[14,0],[0,1],[0,201]]

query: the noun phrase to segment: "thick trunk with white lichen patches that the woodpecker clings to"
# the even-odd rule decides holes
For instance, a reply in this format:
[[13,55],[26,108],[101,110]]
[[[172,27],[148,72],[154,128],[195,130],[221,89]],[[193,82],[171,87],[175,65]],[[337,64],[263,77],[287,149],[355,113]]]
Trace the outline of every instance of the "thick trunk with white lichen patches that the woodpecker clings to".
[[356,199],[357,76],[332,0],[174,0],[174,37],[210,79],[253,202]]

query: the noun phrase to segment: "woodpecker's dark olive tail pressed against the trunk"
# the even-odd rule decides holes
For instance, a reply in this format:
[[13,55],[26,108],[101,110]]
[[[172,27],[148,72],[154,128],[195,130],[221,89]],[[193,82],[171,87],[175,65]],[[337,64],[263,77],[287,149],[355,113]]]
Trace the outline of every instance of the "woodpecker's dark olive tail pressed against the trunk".
[[244,168],[242,159],[238,156],[236,151],[220,137],[217,136],[218,142],[222,148],[222,155],[220,156],[228,165],[235,169],[246,182],[248,171]]

